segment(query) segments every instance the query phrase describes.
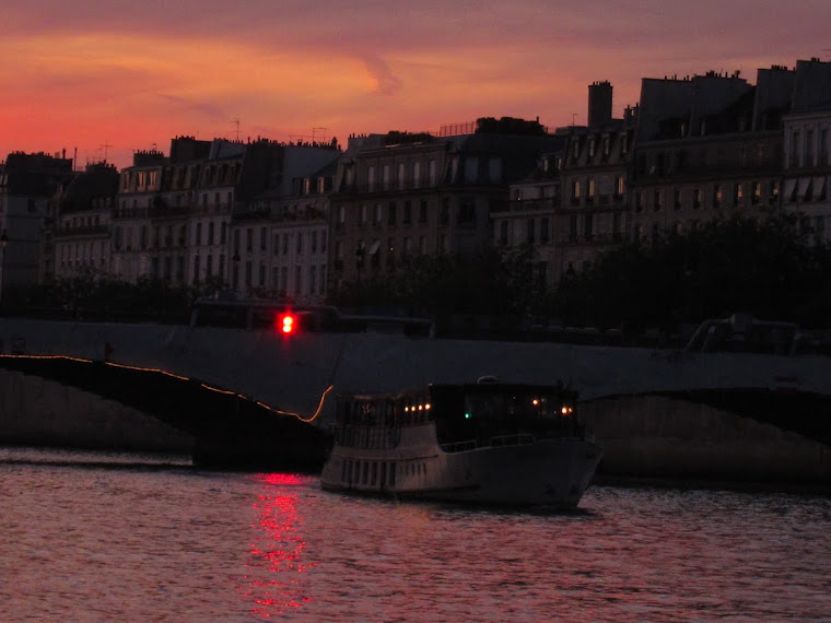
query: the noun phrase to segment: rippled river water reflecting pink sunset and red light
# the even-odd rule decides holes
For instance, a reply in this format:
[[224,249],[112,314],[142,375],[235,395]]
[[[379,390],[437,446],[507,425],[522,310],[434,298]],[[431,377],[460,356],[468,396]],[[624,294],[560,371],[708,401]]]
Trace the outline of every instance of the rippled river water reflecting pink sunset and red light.
[[0,448],[3,621],[831,620],[831,499],[590,487],[572,514]]

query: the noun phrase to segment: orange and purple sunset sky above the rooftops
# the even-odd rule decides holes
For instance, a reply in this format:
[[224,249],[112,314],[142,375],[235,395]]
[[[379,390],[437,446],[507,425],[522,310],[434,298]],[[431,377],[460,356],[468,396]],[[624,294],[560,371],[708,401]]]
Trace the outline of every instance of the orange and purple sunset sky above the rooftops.
[[437,131],[615,115],[644,77],[831,60],[829,0],[3,0],[0,160],[168,152],[175,136]]

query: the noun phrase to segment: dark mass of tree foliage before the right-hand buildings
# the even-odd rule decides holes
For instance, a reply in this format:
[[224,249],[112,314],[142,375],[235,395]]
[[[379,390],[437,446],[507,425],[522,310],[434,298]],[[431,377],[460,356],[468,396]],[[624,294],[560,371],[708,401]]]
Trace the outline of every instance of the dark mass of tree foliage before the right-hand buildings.
[[749,312],[827,326],[831,255],[809,245],[797,219],[734,216],[655,245],[625,244],[564,279],[555,310],[571,324],[666,330]]

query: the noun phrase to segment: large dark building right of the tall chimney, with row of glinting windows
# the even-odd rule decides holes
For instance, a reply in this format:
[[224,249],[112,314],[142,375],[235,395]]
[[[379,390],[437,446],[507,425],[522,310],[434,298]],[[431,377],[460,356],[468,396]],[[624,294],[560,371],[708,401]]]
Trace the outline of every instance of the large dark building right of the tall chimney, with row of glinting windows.
[[700,223],[777,209],[782,113],[793,72],[760,70],[644,79],[630,181],[633,239],[657,242]]

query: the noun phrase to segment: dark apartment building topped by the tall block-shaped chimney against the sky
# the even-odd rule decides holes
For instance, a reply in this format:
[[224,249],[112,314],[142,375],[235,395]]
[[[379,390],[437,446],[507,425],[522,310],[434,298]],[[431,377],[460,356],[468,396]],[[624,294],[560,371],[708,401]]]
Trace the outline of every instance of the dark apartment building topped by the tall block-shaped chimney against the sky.
[[612,118],[612,86],[595,82],[588,87],[587,119],[587,126],[557,129],[560,149],[513,184],[507,210],[493,215],[494,244],[527,245],[536,279],[549,289],[627,235],[636,108]]

